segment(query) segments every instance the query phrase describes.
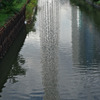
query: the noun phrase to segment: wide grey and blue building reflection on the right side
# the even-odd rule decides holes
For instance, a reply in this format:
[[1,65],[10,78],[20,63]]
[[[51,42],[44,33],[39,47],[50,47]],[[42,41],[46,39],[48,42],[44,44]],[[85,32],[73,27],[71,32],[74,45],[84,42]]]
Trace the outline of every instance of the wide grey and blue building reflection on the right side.
[[[86,66],[98,66],[100,63],[100,31],[94,24],[95,18],[91,22],[90,16],[79,11],[76,6],[72,7],[72,16],[74,63]],[[79,23],[79,26],[77,23]]]

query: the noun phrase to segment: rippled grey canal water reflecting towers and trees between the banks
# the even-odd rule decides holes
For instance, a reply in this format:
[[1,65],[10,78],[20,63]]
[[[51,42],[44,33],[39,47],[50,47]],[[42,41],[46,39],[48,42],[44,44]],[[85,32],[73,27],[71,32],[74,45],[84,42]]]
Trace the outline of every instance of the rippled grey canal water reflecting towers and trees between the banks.
[[100,100],[100,11],[39,0],[0,61],[0,100]]

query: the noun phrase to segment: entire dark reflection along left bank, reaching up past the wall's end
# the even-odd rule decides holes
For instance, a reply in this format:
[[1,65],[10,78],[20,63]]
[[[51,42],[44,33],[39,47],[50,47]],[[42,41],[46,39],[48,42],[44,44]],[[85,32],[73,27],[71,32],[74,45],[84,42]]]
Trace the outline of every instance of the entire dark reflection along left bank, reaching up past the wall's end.
[[[17,79],[15,78],[16,75],[19,74],[26,75],[26,69],[22,68],[21,66],[24,65],[25,59],[23,58],[22,55],[19,54],[19,52],[21,51],[25,39],[27,38],[27,35],[29,34],[30,30],[33,30],[34,23],[36,20],[36,16],[35,16],[36,13],[37,13],[37,8],[35,8],[33,11],[32,15],[34,16],[32,16],[31,18],[31,23],[23,25],[23,27],[18,32],[17,38],[13,41],[6,55],[3,57],[3,59],[0,60],[0,80],[1,80],[0,93],[5,87],[4,85],[8,79],[10,79],[11,83],[16,83],[17,82]],[[0,95],[0,100],[1,100],[1,95]]]

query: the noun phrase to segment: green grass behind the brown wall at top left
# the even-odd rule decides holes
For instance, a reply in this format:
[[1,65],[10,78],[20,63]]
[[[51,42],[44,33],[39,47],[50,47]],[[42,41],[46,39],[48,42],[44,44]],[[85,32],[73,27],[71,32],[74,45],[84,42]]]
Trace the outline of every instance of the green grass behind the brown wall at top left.
[[0,9],[0,27],[4,26],[5,23],[12,18],[20,9],[26,4],[26,0],[14,0],[12,4],[7,4],[6,7]]

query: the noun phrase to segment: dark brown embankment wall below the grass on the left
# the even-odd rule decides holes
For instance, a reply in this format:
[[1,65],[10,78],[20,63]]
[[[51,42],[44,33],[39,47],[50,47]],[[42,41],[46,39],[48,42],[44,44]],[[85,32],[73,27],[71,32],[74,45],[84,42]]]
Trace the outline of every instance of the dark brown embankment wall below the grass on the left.
[[12,17],[11,20],[5,24],[5,27],[0,28],[0,59],[6,54],[7,50],[23,27],[25,21],[25,10],[26,6],[24,6],[18,14]]

